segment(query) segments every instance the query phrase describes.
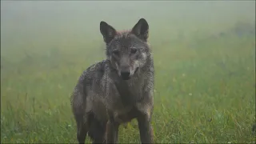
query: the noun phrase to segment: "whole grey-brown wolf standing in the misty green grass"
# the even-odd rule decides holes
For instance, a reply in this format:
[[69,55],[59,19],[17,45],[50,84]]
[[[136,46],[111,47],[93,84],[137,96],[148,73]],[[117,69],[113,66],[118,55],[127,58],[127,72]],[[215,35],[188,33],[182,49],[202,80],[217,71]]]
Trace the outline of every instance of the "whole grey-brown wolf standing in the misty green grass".
[[140,18],[130,30],[115,30],[102,21],[106,59],[89,66],[78,79],[70,102],[77,140],[118,143],[118,127],[136,118],[140,141],[153,143],[154,61],[149,25]]

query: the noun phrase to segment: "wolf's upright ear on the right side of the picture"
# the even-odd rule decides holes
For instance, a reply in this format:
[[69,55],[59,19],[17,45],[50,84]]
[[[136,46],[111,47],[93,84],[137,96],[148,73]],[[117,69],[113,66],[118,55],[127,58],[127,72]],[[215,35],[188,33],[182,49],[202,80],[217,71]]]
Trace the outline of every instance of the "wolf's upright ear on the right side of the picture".
[[141,38],[143,41],[147,41],[149,38],[149,25],[146,22],[146,19],[141,18],[138,20],[136,25],[131,30],[132,34],[135,34],[138,38]]

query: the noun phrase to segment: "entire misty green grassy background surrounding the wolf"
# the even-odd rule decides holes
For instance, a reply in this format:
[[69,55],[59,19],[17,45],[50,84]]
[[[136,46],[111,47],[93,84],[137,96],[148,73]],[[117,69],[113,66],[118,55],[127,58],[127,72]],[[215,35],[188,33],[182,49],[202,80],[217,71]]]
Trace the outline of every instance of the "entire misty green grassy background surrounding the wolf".
[[[156,142],[255,142],[255,1],[1,1],[1,142],[76,142],[69,98],[105,58],[99,23],[139,18]],[[119,141],[139,142],[137,122]]]

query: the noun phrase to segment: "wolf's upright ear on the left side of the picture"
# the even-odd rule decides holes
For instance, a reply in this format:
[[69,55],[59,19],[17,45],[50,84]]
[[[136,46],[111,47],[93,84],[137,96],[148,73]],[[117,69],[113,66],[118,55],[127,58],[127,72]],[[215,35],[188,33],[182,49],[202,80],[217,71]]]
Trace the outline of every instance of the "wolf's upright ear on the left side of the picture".
[[100,23],[100,30],[106,43],[109,43],[117,34],[117,31],[112,26],[103,21]]

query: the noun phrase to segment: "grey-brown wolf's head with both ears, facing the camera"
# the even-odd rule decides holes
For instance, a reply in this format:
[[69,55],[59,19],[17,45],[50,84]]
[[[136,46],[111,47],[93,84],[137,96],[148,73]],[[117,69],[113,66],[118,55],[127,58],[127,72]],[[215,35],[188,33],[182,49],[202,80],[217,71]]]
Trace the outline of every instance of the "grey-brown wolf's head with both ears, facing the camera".
[[106,22],[100,22],[100,31],[106,42],[106,57],[123,80],[130,79],[146,64],[150,46],[147,44],[149,25],[144,18],[127,31],[117,31]]

